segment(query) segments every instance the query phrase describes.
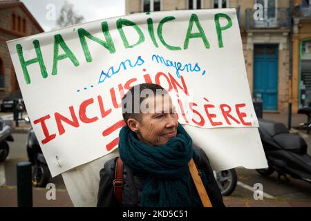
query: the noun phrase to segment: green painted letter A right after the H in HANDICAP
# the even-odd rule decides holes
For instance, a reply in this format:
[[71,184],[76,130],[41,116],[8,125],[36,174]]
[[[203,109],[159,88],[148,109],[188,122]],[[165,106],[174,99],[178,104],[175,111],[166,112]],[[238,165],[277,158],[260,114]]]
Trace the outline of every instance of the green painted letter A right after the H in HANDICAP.
[[[65,54],[58,55],[59,46],[61,46],[61,48],[64,50]],[[75,55],[73,55],[73,52],[66,45],[62,35],[59,35],[59,34],[58,35],[54,35],[54,57],[53,57],[52,75],[56,75],[57,74],[57,63],[58,63],[58,61],[62,60],[62,59],[65,59],[67,57],[73,62],[73,64],[75,66],[79,65],[79,61],[77,60]]]

